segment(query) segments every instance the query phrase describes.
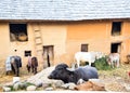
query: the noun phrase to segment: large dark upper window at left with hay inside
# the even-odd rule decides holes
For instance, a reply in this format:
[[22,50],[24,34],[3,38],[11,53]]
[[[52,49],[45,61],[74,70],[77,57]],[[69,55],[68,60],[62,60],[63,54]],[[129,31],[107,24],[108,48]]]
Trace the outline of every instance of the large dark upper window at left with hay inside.
[[27,24],[10,24],[11,41],[27,41]]

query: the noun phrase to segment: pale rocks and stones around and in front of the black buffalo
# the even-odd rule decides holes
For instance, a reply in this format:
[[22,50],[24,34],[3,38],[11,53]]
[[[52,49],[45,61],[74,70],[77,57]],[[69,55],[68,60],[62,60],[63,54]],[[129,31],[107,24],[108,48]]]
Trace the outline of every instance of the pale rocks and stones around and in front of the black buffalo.
[[[77,87],[75,83],[64,83],[62,80],[48,79],[48,76],[55,67],[48,67],[35,76],[31,76],[26,81],[15,81],[6,83],[3,87],[4,92],[9,91],[37,91],[39,88],[42,91],[56,91],[56,90],[75,90]],[[100,83],[100,80],[92,79],[90,81]],[[79,81],[79,84],[86,83],[86,81]],[[99,85],[99,84],[98,84]]]

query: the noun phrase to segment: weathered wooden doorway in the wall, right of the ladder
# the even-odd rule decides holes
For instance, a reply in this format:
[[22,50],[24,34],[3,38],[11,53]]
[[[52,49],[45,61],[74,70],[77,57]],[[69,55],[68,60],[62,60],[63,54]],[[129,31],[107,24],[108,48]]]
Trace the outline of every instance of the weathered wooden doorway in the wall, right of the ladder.
[[43,45],[43,65],[46,67],[50,67],[53,63],[53,45]]

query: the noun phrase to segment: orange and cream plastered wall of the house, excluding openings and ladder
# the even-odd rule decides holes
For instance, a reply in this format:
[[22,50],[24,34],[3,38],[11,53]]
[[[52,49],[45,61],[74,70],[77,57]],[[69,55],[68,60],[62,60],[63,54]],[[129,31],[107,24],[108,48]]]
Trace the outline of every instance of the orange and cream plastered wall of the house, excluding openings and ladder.
[[[32,56],[37,56],[42,67],[42,52],[37,53],[35,44],[34,26],[37,23],[27,23],[28,41],[11,42],[9,23],[0,23],[0,61],[4,61],[9,55],[20,55],[24,66],[27,63],[25,51],[31,51]],[[54,64],[74,62],[74,54],[81,49],[81,44],[87,43],[88,51],[101,51],[110,53],[110,43],[121,42],[121,62],[126,61],[126,55],[130,53],[130,22],[125,21],[121,27],[121,35],[113,37],[110,35],[112,21],[74,22],[57,24],[39,23],[41,30],[42,45],[54,45]],[[14,52],[17,50],[17,52]]]

